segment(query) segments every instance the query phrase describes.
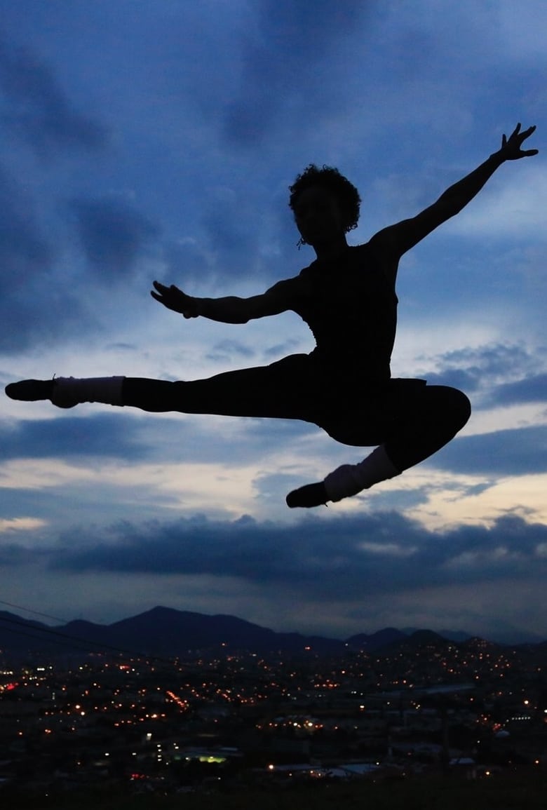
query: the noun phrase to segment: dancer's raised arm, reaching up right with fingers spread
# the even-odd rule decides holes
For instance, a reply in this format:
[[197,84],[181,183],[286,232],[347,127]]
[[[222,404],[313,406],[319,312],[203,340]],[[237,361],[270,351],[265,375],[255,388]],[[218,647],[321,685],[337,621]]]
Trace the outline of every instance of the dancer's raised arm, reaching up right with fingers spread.
[[519,158],[536,155],[537,149],[521,149],[523,141],[529,138],[535,129],[535,126],[530,126],[528,130],[521,132],[520,124],[517,124],[508,139],[505,135],[502,136],[502,146],[498,151],[490,155],[488,160],[485,160],[462,180],[451,185],[436,203],[425,208],[412,219],[403,220],[378,231],[372,237],[371,243],[384,253],[391,254],[394,258],[400,258],[434,228],[449,220],[451,216],[458,214],[470,203],[502,163],[505,163],[506,160],[519,160]]

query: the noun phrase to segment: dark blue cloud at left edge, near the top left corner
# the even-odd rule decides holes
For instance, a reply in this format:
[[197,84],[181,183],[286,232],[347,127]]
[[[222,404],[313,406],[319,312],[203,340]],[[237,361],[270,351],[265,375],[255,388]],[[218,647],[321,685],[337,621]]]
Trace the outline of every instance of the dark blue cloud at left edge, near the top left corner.
[[49,67],[28,49],[0,35],[2,119],[41,158],[105,147],[107,131],[72,109]]

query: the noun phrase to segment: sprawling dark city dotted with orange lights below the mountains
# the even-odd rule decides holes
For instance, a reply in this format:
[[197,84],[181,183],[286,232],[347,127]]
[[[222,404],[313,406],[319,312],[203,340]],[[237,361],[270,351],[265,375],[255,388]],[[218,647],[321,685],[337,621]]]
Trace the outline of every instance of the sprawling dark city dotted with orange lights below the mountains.
[[[14,740],[24,735],[36,761],[62,751],[62,773],[78,774],[80,782],[106,776],[152,786],[185,778],[186,768],[203,769],[203,778],[209,770],[215,780],[227,769],[254,773],[250,752],[230,744],[233,734],[254,740],[253,757],[266,746],[262,768],[274,780],[323,779],[324,751],[342,761],[340,752],[360,748],[369,761],[351,778],[365,778],[365,766],[389,774],[438,772],[442,744],[424,740],[440,740],[443,723],[449,738],[458,727],[462,748],[453,760],[469,763],[459,765],[462,773],[493,778],[499,766],[479,767],[477,756],[494,752],[503,761],[521,740],[524,759],[541,770],[541,751],[531,742],[541,746],[547,735],[537,671],[527,654],[479,642],[387,654],[348,650],[339,659],[233,651],[176,665],[105,658],[74,670],[11,670],[0,684],[0,712],[23,701],[27,714],[16,718]],[[109,749],[89,757],[95,744]],[[455,747],[451,740],[451,752]],[[288,751],[314,765],[285,767]],[[27,756],[24,748],[18,756]]]

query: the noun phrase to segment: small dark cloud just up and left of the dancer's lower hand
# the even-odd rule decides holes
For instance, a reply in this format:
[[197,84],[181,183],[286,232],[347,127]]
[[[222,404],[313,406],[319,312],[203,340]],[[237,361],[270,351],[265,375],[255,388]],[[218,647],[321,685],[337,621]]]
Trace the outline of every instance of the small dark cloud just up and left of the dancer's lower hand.
[[110,198],[74,200],[71,211],[89,265],[99,278],[130,273],[141,250],[158,235],[139,211]]

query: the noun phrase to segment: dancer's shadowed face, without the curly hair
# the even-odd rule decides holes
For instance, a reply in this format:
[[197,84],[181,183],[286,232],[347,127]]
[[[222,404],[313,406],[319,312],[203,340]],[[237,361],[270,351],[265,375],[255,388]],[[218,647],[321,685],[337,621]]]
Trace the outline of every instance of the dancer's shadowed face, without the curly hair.
[[328,245],[344,237],[338,198],[321,185],[310,185],[294,202],[294,221],[308,245]]

